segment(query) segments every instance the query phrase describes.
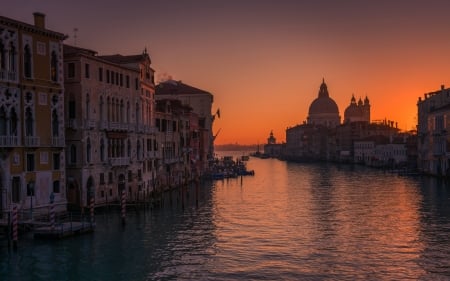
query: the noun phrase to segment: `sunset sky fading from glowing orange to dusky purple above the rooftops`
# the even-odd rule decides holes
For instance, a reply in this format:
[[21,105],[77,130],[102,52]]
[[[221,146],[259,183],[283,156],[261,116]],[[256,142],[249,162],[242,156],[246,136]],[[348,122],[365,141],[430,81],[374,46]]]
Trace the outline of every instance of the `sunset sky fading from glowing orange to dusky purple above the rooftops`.
[[[0,15],[66,33],[100,55],[146,47],[156,76],[214,95],[216,144],[265,143],[306,120],[322,78],[341,119],[352,94],[372,119],[415,128],[419,96],[450,87],[450,1],[25,1]],[[43,3],[39,3],[43,2]],[[77,28],[75,42],[73,29]]]

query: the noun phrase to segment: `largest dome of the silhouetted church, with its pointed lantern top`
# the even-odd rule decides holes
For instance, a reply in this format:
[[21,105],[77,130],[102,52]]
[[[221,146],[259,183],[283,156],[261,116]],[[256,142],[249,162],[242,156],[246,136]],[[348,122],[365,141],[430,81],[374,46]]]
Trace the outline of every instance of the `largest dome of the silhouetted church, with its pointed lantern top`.
[[307,123],[335,128],[340,125],[341,117],[336,102],[328,94],[325,79],[319,89],[319,96],[309,106]]

